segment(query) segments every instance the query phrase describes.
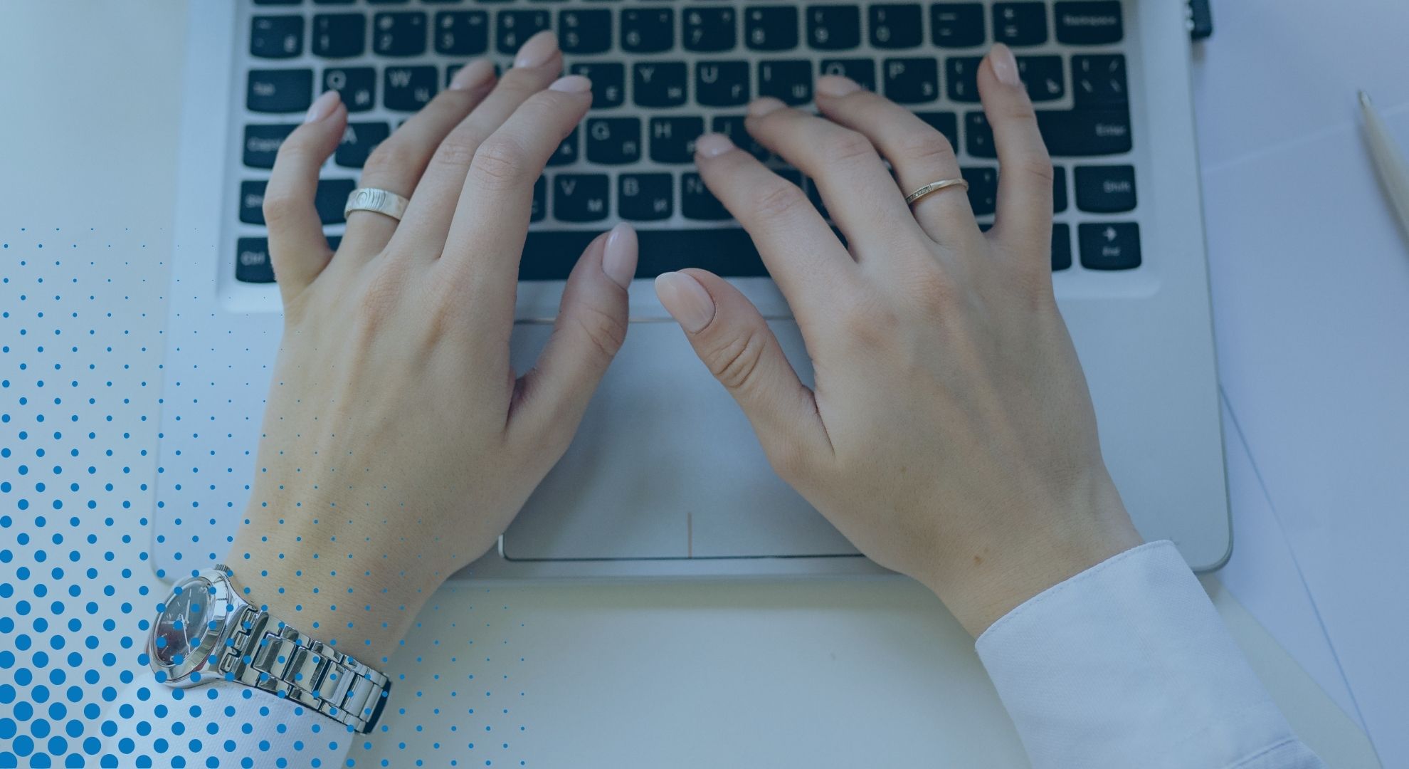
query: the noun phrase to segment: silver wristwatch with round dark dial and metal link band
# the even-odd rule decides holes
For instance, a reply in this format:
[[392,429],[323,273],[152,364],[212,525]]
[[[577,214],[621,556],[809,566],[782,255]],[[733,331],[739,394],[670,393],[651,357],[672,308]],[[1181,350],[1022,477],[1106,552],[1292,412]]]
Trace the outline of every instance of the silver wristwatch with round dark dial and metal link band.
[[147,639],[158,679],[175,687],[242,683],[371,732],[392,682],[245,601],[232,576],[216,564],[172,590]]

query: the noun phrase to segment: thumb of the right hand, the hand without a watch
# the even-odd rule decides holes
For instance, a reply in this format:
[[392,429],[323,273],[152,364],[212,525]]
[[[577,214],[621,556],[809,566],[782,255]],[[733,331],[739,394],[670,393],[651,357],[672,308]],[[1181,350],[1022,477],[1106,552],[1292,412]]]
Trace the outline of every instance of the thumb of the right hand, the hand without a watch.
[[806,457],[831,456],[812,389],[783,356],[758,308],[703,270],[665,272],[655,293],[690,346],[754,426],[764,453],[788,478]]

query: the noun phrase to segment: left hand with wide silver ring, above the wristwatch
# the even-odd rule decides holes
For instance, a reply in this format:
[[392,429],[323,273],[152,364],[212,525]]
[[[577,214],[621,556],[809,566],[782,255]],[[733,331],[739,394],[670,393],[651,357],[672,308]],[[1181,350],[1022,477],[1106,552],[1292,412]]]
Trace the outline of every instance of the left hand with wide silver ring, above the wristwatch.
[[533,186],[592,102],[561,71],[551,32],[497,85],[488,61],[461,69],[366,162],[361,186],[409,196],[404,217],[352,212],[337,255],[313,206],[347,123],[335,93],[269,178],[285,332],[225,563],[254,604],[373,667],[558,461],[626,334],[637,244],[619,226],[578,261],[538,365],[509,364]]

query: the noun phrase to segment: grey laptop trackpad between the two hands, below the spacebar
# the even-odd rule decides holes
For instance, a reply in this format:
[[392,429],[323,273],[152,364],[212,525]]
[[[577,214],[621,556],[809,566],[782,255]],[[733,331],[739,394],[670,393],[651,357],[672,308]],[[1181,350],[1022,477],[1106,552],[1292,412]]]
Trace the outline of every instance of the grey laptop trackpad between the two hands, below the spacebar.
[[[810,384],[796,322],[769,325]],[[517,371],[551,332],[514,326]],[[504,532],[510,560],[855,552],[774,474],[744,413],[674,322],[631,323],[568,453]]]

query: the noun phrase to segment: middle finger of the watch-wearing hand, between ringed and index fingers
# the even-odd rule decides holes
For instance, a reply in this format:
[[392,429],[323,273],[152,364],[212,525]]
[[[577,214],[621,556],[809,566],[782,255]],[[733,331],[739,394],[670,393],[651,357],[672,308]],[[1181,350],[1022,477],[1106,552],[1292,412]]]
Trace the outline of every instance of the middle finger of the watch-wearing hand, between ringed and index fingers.
[[[483,61],[483,65],[492,72],[489,61]],[[558,38],[550,31],[528,38],[519,49],[513,69],[504,73],[469,117],[441,141],[426,168],[426,175],[416,185],[416,195],[411,196],[411,205],[407,206],[393,240],[414,238],[417,244],[424,246],[417,248],[418,251],[437,255],[441,253],[475,151],[520,104],[548,87],[559,72],[562,72],[562,54],[558,51]],[[464,71],[457,75],[464,75]]]

